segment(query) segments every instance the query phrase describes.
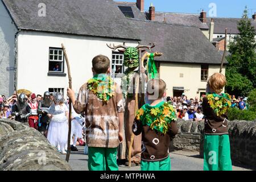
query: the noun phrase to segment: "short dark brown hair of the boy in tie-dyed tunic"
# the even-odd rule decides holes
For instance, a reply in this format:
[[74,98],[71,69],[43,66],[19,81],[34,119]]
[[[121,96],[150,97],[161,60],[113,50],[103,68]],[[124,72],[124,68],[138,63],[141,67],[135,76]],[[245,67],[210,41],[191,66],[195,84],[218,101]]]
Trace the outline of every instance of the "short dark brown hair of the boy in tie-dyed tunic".
[[96,73],[106,73],[110,67],[110,60],[107,56],[98,55],[93,58],[92,65]]

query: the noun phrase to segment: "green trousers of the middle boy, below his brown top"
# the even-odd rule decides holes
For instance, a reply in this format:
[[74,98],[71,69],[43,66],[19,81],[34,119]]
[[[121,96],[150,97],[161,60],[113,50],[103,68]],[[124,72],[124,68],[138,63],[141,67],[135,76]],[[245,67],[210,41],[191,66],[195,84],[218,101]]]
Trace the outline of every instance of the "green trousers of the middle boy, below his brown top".
[[141,160],[141,171],[171,171],[170,156],[164,160],[156,162]]

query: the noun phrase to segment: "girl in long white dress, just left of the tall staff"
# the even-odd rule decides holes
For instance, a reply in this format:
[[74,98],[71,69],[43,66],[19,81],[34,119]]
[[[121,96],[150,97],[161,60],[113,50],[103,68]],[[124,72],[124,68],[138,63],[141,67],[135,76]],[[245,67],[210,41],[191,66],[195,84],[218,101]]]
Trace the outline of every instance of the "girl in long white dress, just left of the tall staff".
[[48,114],[51,120],[49,122],[47,139],[52,146],[60,147],[61,154],[67,154],[65,146],[68,143],[68,107],[64,104],[61,94],[57,94],[59,95],[54,100],[55,113],[57,114]]

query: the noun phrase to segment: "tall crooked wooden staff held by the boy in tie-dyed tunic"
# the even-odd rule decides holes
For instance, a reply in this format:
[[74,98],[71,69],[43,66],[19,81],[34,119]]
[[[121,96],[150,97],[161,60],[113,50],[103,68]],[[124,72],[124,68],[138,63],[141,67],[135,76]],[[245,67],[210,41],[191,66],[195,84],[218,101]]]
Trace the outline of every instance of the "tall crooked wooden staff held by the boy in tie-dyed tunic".
[[[63,49],[65,60],[66,60],[67,67],[68,67],[68,84],[69,84],[69,88],[72,89],[72,78],[71,78],[71,72],[70,72],[70,67],[69,67],[68,56],[67,56],[66,49],[65,49],[63,44],[61,44],[61,47]],[[68,106],[69,106],[69,108],[68,108],[69,109],[69,113],[68,113],[68,152],[67,152],[67,155],[66,155],[67,162],[69,160],[69,155],[70,155],[70,152],[71,152],[71,148],[70,148],[70,135],[71,135],[71,113],[72,113],[71,109],[72,109],[72,102],[71,102],[70,99],[68,101]]]

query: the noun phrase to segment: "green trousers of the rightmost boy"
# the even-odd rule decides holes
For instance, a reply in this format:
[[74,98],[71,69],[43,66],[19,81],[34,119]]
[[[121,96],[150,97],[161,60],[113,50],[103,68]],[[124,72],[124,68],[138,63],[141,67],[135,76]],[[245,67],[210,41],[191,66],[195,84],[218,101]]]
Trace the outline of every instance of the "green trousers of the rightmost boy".
[[204,171],[232,171],[229,135],[205,134]]

